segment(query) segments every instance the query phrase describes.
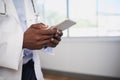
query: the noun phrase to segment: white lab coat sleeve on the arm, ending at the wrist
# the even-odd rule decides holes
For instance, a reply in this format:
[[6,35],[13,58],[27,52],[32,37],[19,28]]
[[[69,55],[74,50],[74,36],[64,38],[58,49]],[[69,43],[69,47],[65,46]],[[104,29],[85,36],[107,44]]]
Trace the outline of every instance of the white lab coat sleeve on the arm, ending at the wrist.
[[0,67],[18,70],[22,43],[23,31],[15,18],[0,14]]

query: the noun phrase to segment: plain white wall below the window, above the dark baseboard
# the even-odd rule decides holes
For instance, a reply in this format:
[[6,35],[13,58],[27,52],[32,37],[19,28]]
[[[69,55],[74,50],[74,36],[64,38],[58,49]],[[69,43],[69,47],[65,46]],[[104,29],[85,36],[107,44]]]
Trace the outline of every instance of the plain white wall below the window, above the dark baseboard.
[[40,54],[46,69],[120,78],[120,41],[64,38],[54,56]]

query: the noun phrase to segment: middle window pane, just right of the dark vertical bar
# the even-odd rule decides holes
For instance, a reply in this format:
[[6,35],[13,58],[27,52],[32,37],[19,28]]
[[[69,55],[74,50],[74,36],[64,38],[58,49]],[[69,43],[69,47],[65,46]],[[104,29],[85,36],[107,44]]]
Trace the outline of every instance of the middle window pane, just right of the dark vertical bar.
[[70,37],[96,35],[96,0],[69,0],[69,17],[77,22]]

